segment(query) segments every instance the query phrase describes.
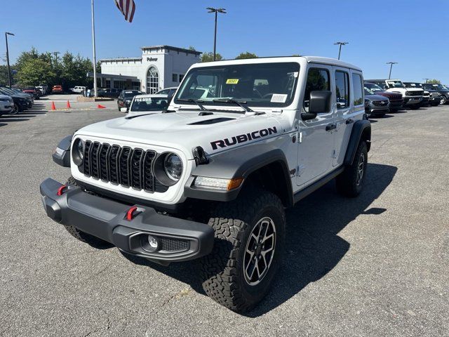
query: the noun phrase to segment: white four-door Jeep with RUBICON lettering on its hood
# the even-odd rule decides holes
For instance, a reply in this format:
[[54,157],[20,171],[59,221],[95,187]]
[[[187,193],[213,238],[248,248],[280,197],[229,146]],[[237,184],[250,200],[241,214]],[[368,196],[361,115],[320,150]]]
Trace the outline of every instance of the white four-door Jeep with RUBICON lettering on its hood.
[[[207,97],[204,97],[207,89]],[[285,209],[336,178],[361,192],[370,150],[358,67],[286,57],[193,65],[162,114],[102,121],[63,139],[65,185],[46,213],[93,246],[161,264],[196,259],[206,293],[253,308],[282,263]]]

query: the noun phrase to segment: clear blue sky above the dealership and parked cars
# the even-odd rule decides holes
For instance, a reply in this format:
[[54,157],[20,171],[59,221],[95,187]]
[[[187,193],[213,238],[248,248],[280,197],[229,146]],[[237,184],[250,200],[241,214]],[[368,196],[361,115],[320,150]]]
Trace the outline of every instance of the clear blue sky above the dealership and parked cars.
[[[242,51],[260,56],[337,57],[335,41],[349,41],[342,60],[365,78],[404,81],[441,79],[449,84],[449,0],[135,0],[133,23],[123,20],[113,0],[95,0],[97,57],[140,56],[140,47],[168,44],[213,49],[213,15],[223,7],[217,52],[234,58]],[[90,0],[1,1],[0,32],[10,38],[11,60],[32,46],[72,51],[92,58]],[[1,38],[4,39],[4,38]],[[4,42],[0,55],[5,55]],[[0,61],[1,62],[1,61]]]

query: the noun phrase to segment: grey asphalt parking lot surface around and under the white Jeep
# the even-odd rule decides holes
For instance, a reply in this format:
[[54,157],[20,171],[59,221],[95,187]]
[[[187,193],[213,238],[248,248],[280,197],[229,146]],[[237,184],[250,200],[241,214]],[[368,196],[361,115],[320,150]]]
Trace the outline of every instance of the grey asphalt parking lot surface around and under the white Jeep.
[[449,336],[449,106],[374,119],[363,194],[329,183],[288,210],[281,274],[238,315],[191,263],[95,250],[46,217],[39,183],[70,174],[55,145],[114,104],[0,117],[0,336]]

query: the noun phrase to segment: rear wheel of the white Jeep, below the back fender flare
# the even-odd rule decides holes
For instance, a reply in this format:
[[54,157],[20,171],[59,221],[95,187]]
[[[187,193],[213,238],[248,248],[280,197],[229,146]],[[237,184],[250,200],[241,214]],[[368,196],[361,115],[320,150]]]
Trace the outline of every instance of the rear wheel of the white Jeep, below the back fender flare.
[[[363,156],[363,171],[361,179],[358,179],[359,169]],[[337,190],[345,197],[357,197],[363,188],[363,182],[366,177],[366,167],[368,164],[368,148],[362,140],[357,147],[354,161],[347,166],[344,171],[335,179]]]

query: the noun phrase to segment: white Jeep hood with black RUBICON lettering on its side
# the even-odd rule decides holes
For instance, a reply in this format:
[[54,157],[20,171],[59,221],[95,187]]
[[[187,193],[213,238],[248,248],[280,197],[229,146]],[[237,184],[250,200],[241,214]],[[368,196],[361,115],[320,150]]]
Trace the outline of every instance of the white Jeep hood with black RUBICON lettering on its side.
[[[201,146],[207,154],[253,143],[283,132],[280,115],[217,113],[199,116],[196,112],[169,112],[101,121],[81,128],[76,135],[121,140],[130,143],[178,149],[187,159]],[[244,143],[244,144],[243,144]]]

